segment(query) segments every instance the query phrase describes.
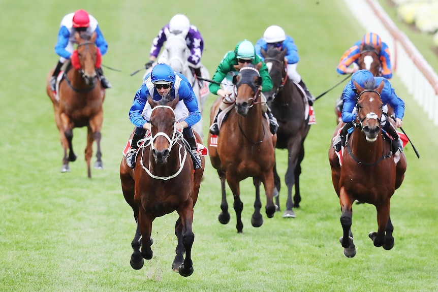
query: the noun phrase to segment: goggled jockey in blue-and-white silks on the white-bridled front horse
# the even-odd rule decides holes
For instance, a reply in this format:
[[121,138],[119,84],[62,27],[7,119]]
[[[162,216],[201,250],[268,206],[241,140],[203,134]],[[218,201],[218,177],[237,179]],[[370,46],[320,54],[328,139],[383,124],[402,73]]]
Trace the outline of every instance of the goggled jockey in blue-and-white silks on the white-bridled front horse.
[[145,76],[129,111],[129,119],[137,127],[132,138],[131,150],[126,155],[126,163],[130,168],[135,167],[138,141],[144,137],[146,130],[150,130],[149,119],[152,109],[147,102],[147,97],[151,96],[154,101],[160,101],[167,95],[173,99],[179,99],[175,108],[175,117],[179,121],[176,126],[178,130],[182,129],[184,139],[189,142],[193,153],[192,158],[197,159],[198,163],[196,161],[193,163],[195,169],[201,165],[201,157],[197,152],[197,142],[192,130],[192,126],[201,119],[198,100],[184,75],[174,72],[162,58]]

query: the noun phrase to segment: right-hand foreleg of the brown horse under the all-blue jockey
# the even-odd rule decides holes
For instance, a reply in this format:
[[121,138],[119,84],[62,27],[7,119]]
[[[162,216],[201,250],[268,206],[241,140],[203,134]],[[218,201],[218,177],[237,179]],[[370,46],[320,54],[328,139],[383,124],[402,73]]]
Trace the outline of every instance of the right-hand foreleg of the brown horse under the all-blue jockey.
[[[374,243],[374,246],[381,247],[385,245],[385,249],[391,249],[394,246],[394,238],[392,237],[392,223],[389,219],[389,209],[390,209],[390,201],[389,199],[386,202],[383,202],[377,209],[377,223],[379,225],[379,229],[377,232],[370,232],[369,238]],[[390,224],[389,235],[388,238],[385,237],[385,231],[388,227],[388,223]],[[387,241],[388,240],[388,241]]]

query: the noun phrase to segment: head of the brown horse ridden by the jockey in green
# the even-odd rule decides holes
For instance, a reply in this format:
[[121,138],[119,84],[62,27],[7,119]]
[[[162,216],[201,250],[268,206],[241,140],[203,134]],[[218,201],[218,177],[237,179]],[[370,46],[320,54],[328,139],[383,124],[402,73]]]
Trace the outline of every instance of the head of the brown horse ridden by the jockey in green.
[[237,75],[233,76],[233,84],[237,88],[234,108],[242,116],[248,114],[248,109],[254,106],[260,96],[262,77],[260,77],[259,70],[261,67],[262,62],[256,66],[253,64],[234,66],[239,71]]

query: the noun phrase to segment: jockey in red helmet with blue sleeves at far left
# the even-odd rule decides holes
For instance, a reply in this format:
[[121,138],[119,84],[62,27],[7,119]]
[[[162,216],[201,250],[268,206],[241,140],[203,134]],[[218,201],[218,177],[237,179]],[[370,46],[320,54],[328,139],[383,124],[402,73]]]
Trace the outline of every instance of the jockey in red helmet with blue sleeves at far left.
[[[77,10],[75,13],[69,13],[64,16],[60,23],[58,41],[55,45],[55,52],[60,56],[60,58],[56,64],[55,71],[50,78],[50,89],[52,91],[56,90],[56,78],[59,75],[62,65],[66,62],[66,60],[70,59],[74,51],[74,44],[76,43],[76,31],[79,33],[82,33],[83,31],[86,31],[90,34],[96,33],[97,37],[95,43],[99,48],[98,53],[103,56],[108,50],[108,43],[102,35],[96,18],[82,9]],[[111,84],[103,74],[102,67],[96,68],[96,70],[100,76],[102,87],[111,88]]]

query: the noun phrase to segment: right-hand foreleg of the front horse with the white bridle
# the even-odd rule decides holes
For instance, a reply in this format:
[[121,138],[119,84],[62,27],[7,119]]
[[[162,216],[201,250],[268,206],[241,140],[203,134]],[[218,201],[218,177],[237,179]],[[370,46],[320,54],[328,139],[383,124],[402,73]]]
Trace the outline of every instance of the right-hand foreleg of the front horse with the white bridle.
[[184,262],[179,266],[178,272],[183,277],[193,274],[192,246],[195,241],[195,234],[192,231],[193,223],[193,201],[190,199],[178,212],[182,225],[182,244],[185,249]]

